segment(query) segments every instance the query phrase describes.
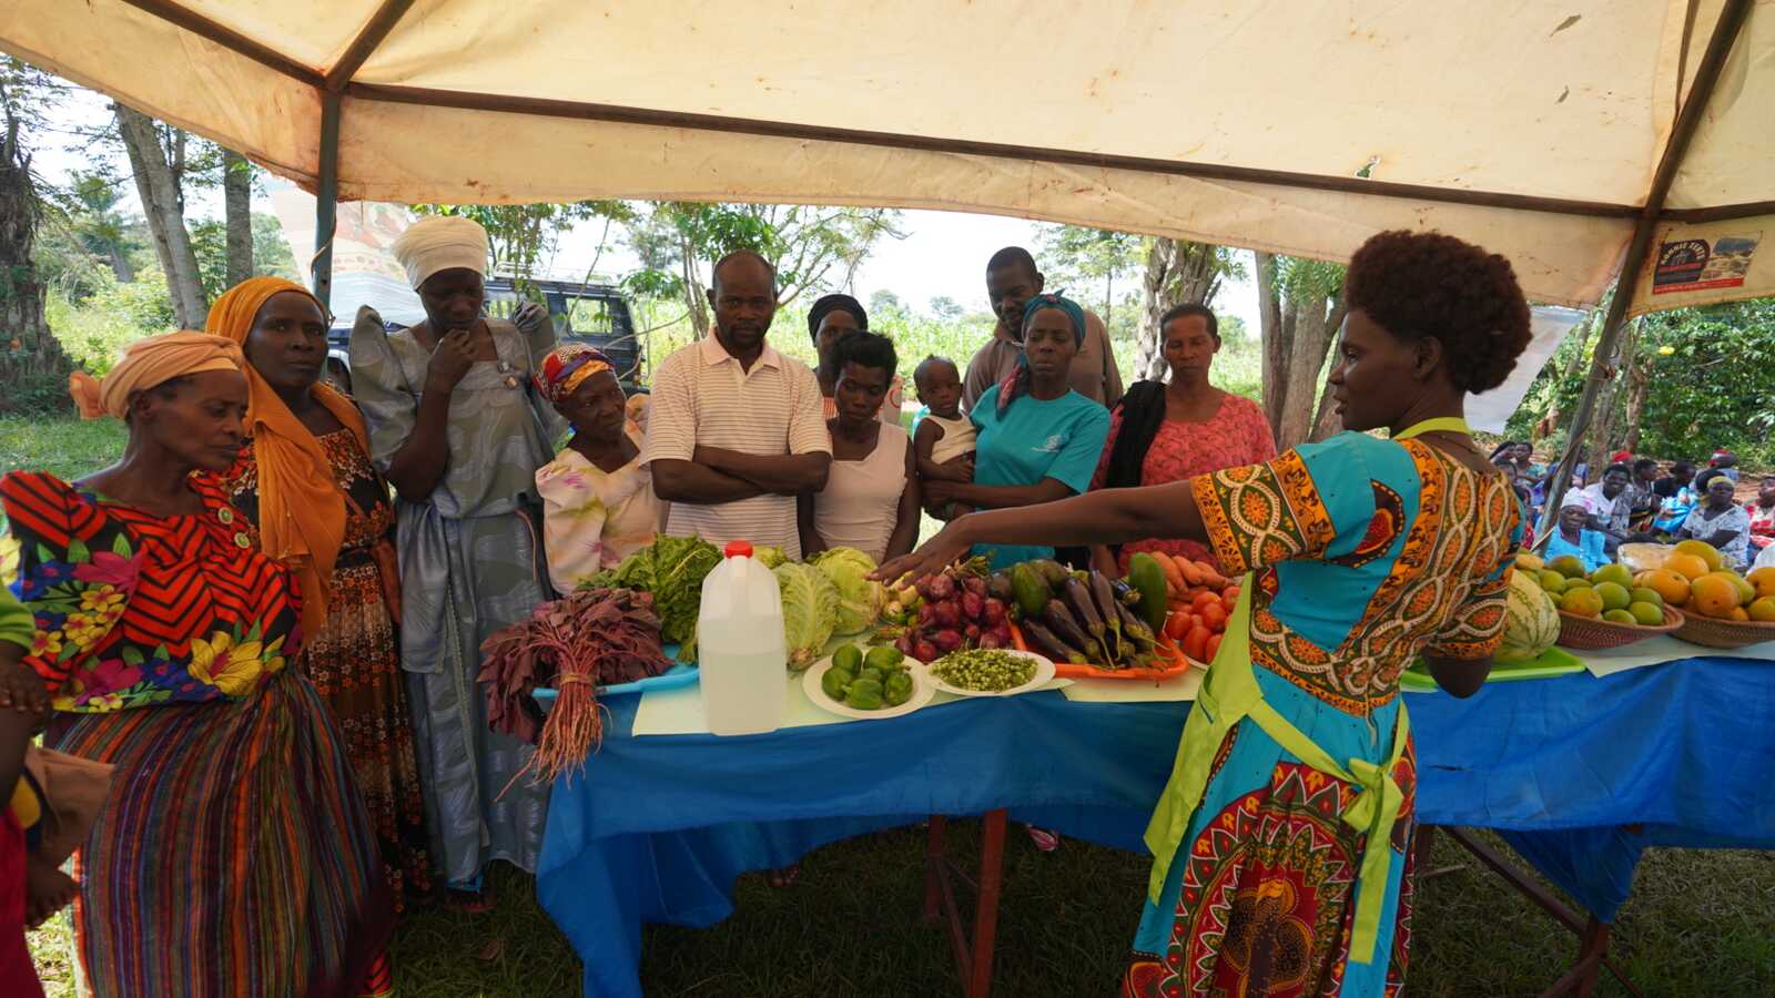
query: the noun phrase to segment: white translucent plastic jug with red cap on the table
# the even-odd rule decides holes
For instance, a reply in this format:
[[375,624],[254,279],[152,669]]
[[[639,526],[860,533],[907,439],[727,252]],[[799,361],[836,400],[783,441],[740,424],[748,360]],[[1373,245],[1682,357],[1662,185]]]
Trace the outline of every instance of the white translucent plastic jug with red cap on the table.
[[788,684],[783,598],[749,542],[730,542],[724,554],[703,579],[696,618],[703,716],[717,735],[774,732],[783,726]]

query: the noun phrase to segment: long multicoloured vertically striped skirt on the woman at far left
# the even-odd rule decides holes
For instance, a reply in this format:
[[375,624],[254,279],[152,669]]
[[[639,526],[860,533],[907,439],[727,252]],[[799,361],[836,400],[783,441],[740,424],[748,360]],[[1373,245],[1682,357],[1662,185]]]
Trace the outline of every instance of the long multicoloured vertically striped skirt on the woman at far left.
[[394,909],[339,737],[295,669],[243,701],[80,716],[57,748],[117,767],[76,868],[91,994],[359,991]]

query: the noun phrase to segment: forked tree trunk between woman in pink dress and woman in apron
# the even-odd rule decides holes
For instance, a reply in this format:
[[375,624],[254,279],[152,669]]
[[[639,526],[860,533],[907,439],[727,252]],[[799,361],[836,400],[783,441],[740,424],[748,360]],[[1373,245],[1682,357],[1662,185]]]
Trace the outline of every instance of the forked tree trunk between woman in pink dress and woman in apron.
[[1276,432],[1276,448],[1292,448],[1306,442],[1329,419],[1321,371],[1347,311],[1344,268],[1262,250],[1255,257],[1264,414]]

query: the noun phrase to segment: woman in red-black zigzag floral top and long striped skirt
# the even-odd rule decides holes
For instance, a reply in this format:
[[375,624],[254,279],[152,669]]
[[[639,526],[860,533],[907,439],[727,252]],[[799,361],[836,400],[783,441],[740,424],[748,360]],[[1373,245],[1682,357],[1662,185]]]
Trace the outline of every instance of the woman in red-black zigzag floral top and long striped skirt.
[[122,460],[0,481],[44,744],[114,765],[76,861],[92,994],[357,994],[392,931],[344,748],[288,668],[304,593],[218,478],[247,435],[243,368],[220,336],[133,343],[73,382],[85,416],[128,423]]

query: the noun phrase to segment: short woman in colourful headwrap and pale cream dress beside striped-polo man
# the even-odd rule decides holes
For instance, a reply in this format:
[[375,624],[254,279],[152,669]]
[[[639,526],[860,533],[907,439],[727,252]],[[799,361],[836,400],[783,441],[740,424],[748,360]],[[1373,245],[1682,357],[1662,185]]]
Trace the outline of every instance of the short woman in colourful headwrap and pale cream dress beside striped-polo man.
[[536,387],[573,428],[566,448],[536,472],[548,577],[557,593],[572,593],[653,543],[662,506],[609,357],[582,343],[557,346],[543,359]]

